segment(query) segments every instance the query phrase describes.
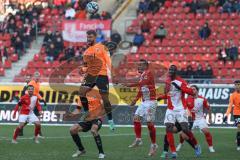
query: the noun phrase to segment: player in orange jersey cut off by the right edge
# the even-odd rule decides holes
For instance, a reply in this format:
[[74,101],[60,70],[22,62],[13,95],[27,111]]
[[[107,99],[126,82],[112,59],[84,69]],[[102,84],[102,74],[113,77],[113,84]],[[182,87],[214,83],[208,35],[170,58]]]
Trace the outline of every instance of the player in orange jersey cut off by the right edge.
[[238,128],[237,136],[236,136],[237,150],[240,151],[240,80],[235,81],[234,84],[235,84],[235,91],[230,96],[228,109],[223,121],[224,122],[227,121],[227,117],[233,110],[235,125]]

